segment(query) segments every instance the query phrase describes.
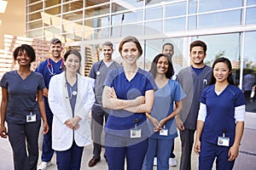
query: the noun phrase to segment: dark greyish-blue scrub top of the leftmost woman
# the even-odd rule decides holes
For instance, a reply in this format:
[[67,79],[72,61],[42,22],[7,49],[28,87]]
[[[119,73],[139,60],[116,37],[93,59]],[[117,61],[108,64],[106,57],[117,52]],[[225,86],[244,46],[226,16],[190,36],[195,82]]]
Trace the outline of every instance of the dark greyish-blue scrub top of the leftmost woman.
[[6,122],[26,123],[26,116],[36,115],[36,120],[40,120],[41,115],[38,109],[38,90],[45,88],[44,78],[41,74],[32,73],[22,79],[17,71],[6,72],[0,82],[2,88],[8,90],[8,105],[6,111]]

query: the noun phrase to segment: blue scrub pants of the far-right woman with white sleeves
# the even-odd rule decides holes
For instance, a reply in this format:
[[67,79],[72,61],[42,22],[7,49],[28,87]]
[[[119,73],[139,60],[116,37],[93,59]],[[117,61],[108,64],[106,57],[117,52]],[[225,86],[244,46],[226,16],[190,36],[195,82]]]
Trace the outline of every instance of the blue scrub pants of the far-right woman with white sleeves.
[[201,152],[199,156],[199,170],[212,170],[212,164],[215,158],[217,170],[231,170],[234,167],[235,161],[228,161],[228,153],[230,147],[218,146],[201,141]]

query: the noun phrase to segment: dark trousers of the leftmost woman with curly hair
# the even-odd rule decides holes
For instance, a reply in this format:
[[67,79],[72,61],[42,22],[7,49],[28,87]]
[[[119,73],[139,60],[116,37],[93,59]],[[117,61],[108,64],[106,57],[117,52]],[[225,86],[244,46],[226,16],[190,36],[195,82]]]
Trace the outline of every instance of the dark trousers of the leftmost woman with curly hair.
[[13,149],[15,170],[37,169],[40,126],[41,120],[25,124],[8,123],[8,136]]

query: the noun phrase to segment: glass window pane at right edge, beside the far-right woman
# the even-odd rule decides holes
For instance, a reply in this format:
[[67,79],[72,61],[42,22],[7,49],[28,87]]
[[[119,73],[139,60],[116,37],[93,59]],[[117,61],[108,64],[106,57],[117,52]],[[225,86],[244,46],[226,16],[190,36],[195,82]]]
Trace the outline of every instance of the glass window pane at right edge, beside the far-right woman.
[[[247,99],[246,110],[256,112],[256,94],[252,95],[252,88],[256,85],[256,31],[245,33],[244,39],[244,65],[242,90]],[[254,86],[255,87],[255,86]]]

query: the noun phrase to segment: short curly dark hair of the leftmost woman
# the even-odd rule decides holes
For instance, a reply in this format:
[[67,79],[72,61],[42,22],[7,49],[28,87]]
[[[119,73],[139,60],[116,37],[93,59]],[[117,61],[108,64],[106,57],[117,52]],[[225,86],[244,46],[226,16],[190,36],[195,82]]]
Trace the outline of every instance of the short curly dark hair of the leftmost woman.
[[[36,54],[34,48],[32,46],[27,45],[27,44],[21,44],[19,47],[15,48],[14,51],[14,59],[17,60],[17,56],[20,52],[26,51],[27,56],[31,59],[30,64],[35,61],[36,59]],[[30,66],[29,64],[29,66]]]

